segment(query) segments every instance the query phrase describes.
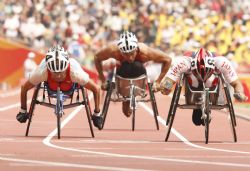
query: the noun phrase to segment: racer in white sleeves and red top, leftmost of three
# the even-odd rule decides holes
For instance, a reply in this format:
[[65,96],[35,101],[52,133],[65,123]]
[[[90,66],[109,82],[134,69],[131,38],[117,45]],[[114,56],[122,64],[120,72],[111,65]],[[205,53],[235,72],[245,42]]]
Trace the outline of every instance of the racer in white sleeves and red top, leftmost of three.
[[59,45],[49,49],[45,59],[42,60],[37,69],[31,73],[28,80],[22,85],[21,109],[16,116],[20,123],[25,123],[29,118],[29,113],[27,112],[27,92],[43,81],[48,82],[49,88],[53,91],[57,91],[58,86],[62,91],[69,91],[74,83],[91,90],[95,101],[92,119],[94,125],[97,126],[95,121],[100,115],[100,87],[89,78],[89,75],[83,71],[75,59],[69,58],[68,52]]

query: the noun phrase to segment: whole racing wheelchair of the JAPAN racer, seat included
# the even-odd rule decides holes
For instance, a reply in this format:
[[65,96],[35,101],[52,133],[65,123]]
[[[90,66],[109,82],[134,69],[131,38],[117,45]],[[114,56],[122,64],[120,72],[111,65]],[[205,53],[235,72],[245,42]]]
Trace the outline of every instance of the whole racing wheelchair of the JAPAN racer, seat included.
[[[229,110],[229,120],[230,120],[230,126],[232,130],[233,140],[234,142],[237,142],[237,136],[236,136],[236,117],[234,113],[234,108],[229,92],[229,85],[226,83],[224,77],[222,74],[217,75],[219,78],[219,82],[217,86],[213,88],[206,88],[203,83],[203,89],[201,90],[195,90],[193,89],[188,81],[186,74],[181,75],[181,79],[178,83],[176,83],[173,98],[171,100],[170,109],[168,112],[168,117],[166,121],[167,126],[167,135],[165,138],[165,141],[168,141],[171,128],[174,122],[174,117],[177,108],[180,109],[201,109],[202,110],[202,122],[204,125],[205,130],[205,143],[208,143],[209,139],[209,123],[211,120],[211,110],[221,110],[221,109],[228,109]],[[181,90],[183,87],[183,84],[185,84],[185,102],[186,104],[179,104],[179,98],[181,94]],[[218,96],[219,96],[219,90],[220,86],[222,86],[226,102],[225,104],[218,104]]]

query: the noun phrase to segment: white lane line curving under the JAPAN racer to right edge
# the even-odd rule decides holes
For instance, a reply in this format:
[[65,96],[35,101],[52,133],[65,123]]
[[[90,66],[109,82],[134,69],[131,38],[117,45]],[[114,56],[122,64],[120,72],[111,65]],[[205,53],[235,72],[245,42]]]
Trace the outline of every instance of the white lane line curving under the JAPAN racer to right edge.
[[[148,111],[152,116],[153,116],[153,111],[145,104],[145,103],[139,103],[146,111]],[[158,116],[158,121],[166,126],[166,121],[162,119],[160,116]],[[185,144],[195,147],[195,148],[201,148],[205,150],[213,150],[213,151],[220,151],[220,152],[229,152],[229,153],[239,153],[239,154],[250,154],[248,151],[236,151],[236,150],[225,150],[225,149],[219,149],[219,148],[209,148],[209,147],[204,147],[200,145],[196,145],[188,141],[184,136],[182,136],[176,129],[172,127],[171,132],[177,136],[181,141],[183,141]],[[232,143],[233,144],[233,143]]]

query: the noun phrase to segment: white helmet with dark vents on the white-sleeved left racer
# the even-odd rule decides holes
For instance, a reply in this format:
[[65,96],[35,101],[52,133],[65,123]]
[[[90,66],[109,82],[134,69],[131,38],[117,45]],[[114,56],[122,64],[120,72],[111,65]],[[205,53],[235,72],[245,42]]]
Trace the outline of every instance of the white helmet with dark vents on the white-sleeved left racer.
[[50,48],[46,54],[46,64],[51,72],[65,71],[69,66],[69,55],[60,45]]

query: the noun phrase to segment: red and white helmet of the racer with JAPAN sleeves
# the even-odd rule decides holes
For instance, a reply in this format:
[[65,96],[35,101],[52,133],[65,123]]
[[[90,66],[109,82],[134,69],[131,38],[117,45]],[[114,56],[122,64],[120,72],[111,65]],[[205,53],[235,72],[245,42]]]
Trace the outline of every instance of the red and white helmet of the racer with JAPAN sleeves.
[[213,54],[199,49],[191,60],[191,70],[200,81],[206,81],[215,70]]

